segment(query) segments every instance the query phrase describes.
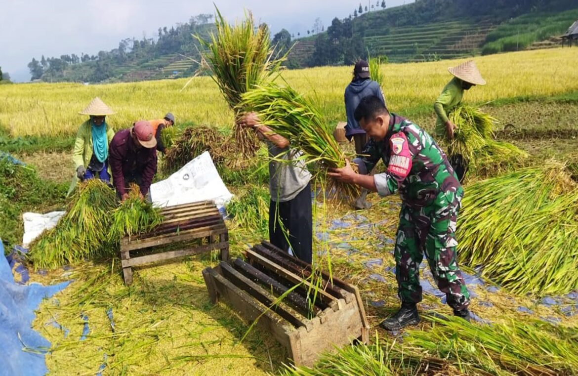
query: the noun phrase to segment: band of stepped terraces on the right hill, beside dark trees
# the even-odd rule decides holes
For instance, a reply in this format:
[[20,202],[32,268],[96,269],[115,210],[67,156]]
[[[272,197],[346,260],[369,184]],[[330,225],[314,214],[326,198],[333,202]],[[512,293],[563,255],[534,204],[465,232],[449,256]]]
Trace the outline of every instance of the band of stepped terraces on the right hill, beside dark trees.
[[387,56],[392,62],[458,58],[479,54],[494,28],[488,20],[392,27],[387,35],[366,35],[364,42],[372,55]]

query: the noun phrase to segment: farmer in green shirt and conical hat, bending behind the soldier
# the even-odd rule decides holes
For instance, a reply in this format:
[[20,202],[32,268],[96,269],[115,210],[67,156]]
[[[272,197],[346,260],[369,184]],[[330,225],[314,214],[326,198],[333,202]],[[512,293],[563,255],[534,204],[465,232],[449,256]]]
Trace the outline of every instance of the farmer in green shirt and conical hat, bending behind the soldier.
[[[485,85],[486,80],[481,77],[476,63],[472,60],[464,62],[454,68],[448,68],[448,71],[454,76],[446,87],[443,88],[442,94],[436,99],[433,109],[438,115],[436,126],[444,125],[446,127],[447,138],[454,138],[455,124],[449,119],[449,113],[455,108],[464,97],[464,90],[469,90],[472,86]],[[451,165],[458,174],[460,181],[464,178],[467,168],[466,162],[459,154],[452,156]]]

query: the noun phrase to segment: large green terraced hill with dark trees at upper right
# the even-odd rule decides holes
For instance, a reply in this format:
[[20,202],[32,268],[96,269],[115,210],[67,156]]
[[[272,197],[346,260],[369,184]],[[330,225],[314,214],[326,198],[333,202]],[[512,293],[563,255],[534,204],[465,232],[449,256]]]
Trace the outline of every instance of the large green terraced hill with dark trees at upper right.
[[[428,61],[555,45],[578,19],[575,0],[416,0],[334,19],[292,57],[301,66],[351,64],[360,57]],[[313,46],[313,48],[312,48]],[[352,48],[351,46],[355,46]]]

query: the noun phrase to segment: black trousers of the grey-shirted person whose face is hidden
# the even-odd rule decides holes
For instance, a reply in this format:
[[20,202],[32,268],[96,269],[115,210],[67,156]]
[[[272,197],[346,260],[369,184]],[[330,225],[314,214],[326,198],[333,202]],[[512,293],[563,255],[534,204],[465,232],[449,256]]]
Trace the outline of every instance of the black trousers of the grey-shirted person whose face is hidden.
[[289,247],[291,247],[295,256],[311,263],[313,248],[311,183],[307,183],[307,186],[293,200],[286,202],[271,200],[269,241],[286,252],[289,252]]

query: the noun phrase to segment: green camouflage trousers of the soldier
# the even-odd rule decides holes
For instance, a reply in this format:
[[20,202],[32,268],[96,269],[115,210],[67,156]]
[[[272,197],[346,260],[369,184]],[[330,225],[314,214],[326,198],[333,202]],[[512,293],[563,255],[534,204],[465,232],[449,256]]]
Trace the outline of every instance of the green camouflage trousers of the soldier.
[[395,277],[399,298],[406,303],[421,301],[420,263],[424,253],[439,289],[451,308],[470,303],[468,288],[456,260],[455,224],[463,191],[440,193],[425,207],[403,204],[395,243]]

